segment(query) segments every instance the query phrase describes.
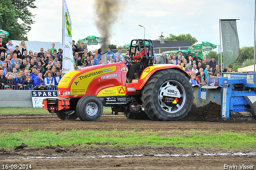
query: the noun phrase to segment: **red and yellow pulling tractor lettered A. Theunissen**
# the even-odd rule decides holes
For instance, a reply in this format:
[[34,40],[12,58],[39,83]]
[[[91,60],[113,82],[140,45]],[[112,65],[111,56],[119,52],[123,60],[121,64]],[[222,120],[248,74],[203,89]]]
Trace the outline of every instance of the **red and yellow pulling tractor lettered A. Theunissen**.
[[136,52],[144,47],[146,54],[140,60],[141,67],[130,83],[126,82],[126,64],[107,63],[103,54],[102,65],[65,74],[58,84],[58,98],[44,99],[43,108],[62,120],[79,117],[82,121],[96,121],[102,116],[103,106],[111,106],[115,114],[123,112],[127,118],[184,118],[194,98],[189,74],[174,64],[154,65],[151,40],[132,40],[130,52],[132,48]]

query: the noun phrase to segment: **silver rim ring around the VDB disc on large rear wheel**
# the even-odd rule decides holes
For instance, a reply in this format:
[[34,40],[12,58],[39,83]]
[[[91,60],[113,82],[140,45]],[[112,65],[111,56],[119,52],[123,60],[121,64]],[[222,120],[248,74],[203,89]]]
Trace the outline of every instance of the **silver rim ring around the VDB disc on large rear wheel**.
[[[179,102],[175,106],[172,106],[172,107],[166,106],[166,104],[164,103],[164,100],[163,100],[163,93],[164,93],[165,89],[170,86],[175,86],[180,92]],[[186,93],[185,93],[184,87],[180,84],[180,82],[178,82],[176,80],[170,80],[168,82],[165,82],[164,84],[162,84],[162,86],[160,87],[160,89],[158,91],[158,102],[159,102],[161,108],[170,114],[180,111],[186,102]]]

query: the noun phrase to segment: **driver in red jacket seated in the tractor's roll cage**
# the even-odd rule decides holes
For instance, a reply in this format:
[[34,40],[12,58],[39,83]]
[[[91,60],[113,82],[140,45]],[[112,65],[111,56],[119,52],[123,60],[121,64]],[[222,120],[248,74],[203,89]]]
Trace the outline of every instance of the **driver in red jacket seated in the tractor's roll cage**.
[[[128,83],[131,82],[135,70],[140,69],[140,60],[142,60],[141,57],[146,54],[145,46],[140,46],[140,48],[141,48],[141,51],[142,51],[141,53],[139,51],[140,49],[138,48],[139,54],[137,54],[136,56],[130,56],[130,59],[131,60],[136,60],[136,63],[127,65],[128,72],[127,72],[127,75],[126,75],[126,80],[127,80]],[[143,69],[145,68],[145,63],[142,63],[142,67],[143,67]]]

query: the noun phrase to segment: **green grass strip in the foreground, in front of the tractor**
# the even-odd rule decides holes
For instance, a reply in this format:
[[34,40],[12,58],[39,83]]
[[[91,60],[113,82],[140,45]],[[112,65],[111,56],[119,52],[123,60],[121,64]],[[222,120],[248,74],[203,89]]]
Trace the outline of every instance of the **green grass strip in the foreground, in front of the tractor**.
[[[211,132],[194,130],[186,132],[154,131],[93,131],[71,130],[65,132],[35,131],[0,132],[0,148],[13,148],[22,142],[29,147],[82,145],[84,147],[127,148],[136,146],[174,146],[210,148],[255,148],[256,135],[232,131]],[[174,134],[174,135],[173,135]]]

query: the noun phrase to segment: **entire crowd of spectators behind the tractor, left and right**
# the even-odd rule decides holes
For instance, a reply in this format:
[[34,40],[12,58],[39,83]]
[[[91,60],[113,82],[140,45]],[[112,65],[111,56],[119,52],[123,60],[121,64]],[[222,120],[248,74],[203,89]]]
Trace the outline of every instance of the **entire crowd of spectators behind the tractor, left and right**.
[[[12,40],[8,41],[8,44],[2,42],[0,38],[0,90],[5,88],[15,90],[32,90],[37,86],[47,86],[48,90],[56,90],[58,82],[62,78],[62,49],[54,48],[55,44],[52,44],[52,48],[44,51],[44,48],[40,48],[40,52],[28,51],[28,46],[22,40],[20,44],[12,44]],[[74,56],[74,67],[84,68],[88,66],[102,64],[101,55],[99,50],[95,50],[94,54],[84,48],[84,43],[80,43],[78,48],[75,45],[75,41],[72,41],[72,50]],[[119,48],[115,54],[109,47],[107,52],[108,63],[124,62],[128,64],[124,56],[134,56],[138,53],[134,53],[134,49],[123,56],[122,49]],[[169,56],[162,53],[162,56],[156,57],[154,64],[176,64],[182,67],[186,72],[190,74],[190,82],[193,85],[207,84],[207,77],[221,76],[221,70],[219,65],[215,61],[215,57],[207,62],[206,57],[201,59],[198,57],[198,53],[195,56],[190,56],[188,53],[186,58],[182,56],[181,52],[175,56],[170,53]],[[233,72],[231,68],[224,70],[226,72]],[[43,85],[42,85],[43,84]],[[42,88],[39,88],[42,89]]]

